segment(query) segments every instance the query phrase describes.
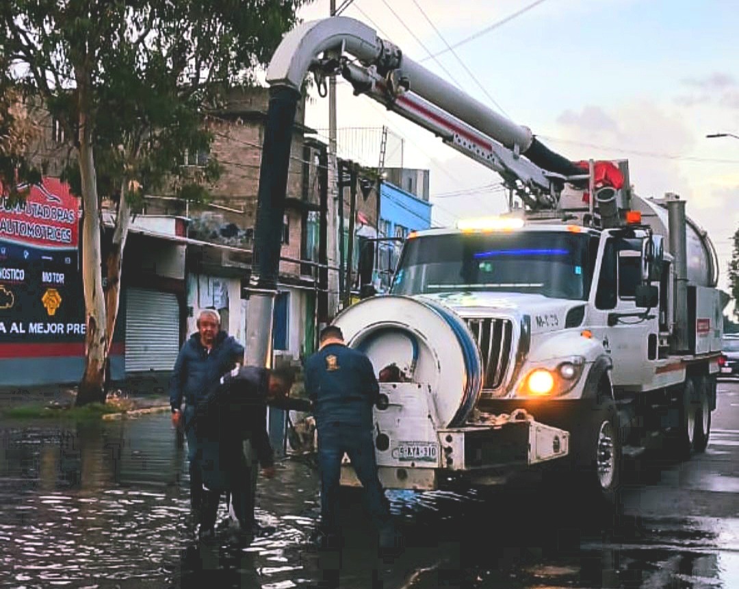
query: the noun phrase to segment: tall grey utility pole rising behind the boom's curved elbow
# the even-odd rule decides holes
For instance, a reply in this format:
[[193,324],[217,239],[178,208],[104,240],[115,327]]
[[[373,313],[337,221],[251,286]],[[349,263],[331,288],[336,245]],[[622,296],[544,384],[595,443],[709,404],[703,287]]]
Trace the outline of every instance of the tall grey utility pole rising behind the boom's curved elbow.
[[[331,0],[331,16],[336,16],[336,0]],[[338,57],[338,55],[336,55]],[[328,210],[327,254],[328,264],[336,268],[336,75],[328,78]],[[343,215],[343,211],[338,212]],[[328,280],[328,314],[333,319],[338,309],[339,276],[330,270]]]

